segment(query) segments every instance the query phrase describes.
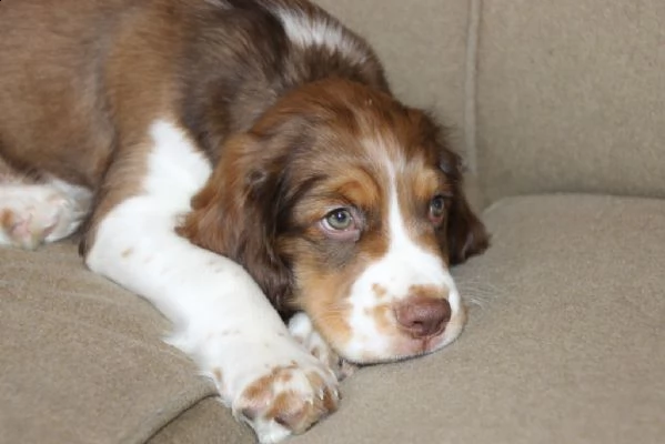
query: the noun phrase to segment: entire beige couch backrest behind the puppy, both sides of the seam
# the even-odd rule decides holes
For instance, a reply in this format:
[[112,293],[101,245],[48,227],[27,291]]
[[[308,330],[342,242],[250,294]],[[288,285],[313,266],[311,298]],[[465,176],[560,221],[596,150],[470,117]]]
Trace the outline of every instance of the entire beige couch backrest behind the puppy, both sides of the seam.
[[453,127],[487,202],[665,196],[663,0],[319,0]]

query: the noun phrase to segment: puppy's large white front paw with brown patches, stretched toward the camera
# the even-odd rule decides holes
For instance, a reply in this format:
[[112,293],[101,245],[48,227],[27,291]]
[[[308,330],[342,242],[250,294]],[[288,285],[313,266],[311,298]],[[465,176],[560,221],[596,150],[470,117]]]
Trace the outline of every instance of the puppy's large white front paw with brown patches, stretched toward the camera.
[[[284,331],[270,342],[209,342],[204,362],[224,404],[248,423],[262,444],[300,434],[337,408],[337,379]],[[173,342],[177,344],[178,342]]]

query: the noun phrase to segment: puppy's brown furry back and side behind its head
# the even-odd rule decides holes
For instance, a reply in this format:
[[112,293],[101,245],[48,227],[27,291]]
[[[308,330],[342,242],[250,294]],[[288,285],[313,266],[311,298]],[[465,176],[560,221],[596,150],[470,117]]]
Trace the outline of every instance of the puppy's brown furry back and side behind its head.
[[89,189],[158,115],[215,158],[305,82],[387,90],[366,43],[299,0],[23,0],[2,6],[0,29],[0,155]]

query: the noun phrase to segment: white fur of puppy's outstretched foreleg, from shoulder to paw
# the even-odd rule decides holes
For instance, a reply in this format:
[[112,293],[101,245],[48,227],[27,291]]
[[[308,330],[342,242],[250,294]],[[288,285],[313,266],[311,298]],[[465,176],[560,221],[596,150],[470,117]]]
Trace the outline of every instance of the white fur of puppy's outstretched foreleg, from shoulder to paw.
[[290,431],[273,418],[242,417],[244,389],[292,363],[293,377],[273,386],[273,396],[288,391],[304,401],[320,396],[322,387],[313,386],[305,372],[318,372],[331,387],[336,380],[289,335],[242,266],[175,234],[178,218],[190,209],[211,168],[169,122],[154,122],[150,138],[142,193],[120,203],[100,223],[87,263],[153,303],[174,323],[169,342],[190,354],[203,374],[223,375],[223,384],[215,381],[222,401],[254,428],[259,441],[281,441]]

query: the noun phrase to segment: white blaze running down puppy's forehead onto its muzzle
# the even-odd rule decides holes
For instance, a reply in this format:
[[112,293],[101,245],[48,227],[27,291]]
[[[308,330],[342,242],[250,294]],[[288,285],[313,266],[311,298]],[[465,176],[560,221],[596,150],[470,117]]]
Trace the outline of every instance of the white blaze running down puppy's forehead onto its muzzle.
[[[351,305],[351,339],[343,349],[343,354],[352,360],[390,360],[403,357],[394,350],[394,340],[400,336],[392,305],[411,296],[414,285],[440,289],[447,293],[452,320],[461,311],[460,294],[443,259],[417,244],[410,235],[404,214],[400,209],[399,190],[395,174],[391,171],[389,190],[389,249],[383,258],[372,263],[359,276],[351,287],[349,303]],[[375,291],[385,292],[382,296]],[[391,310],[384,314],[391,329],[380,330],[374,309],[389,304]]]

